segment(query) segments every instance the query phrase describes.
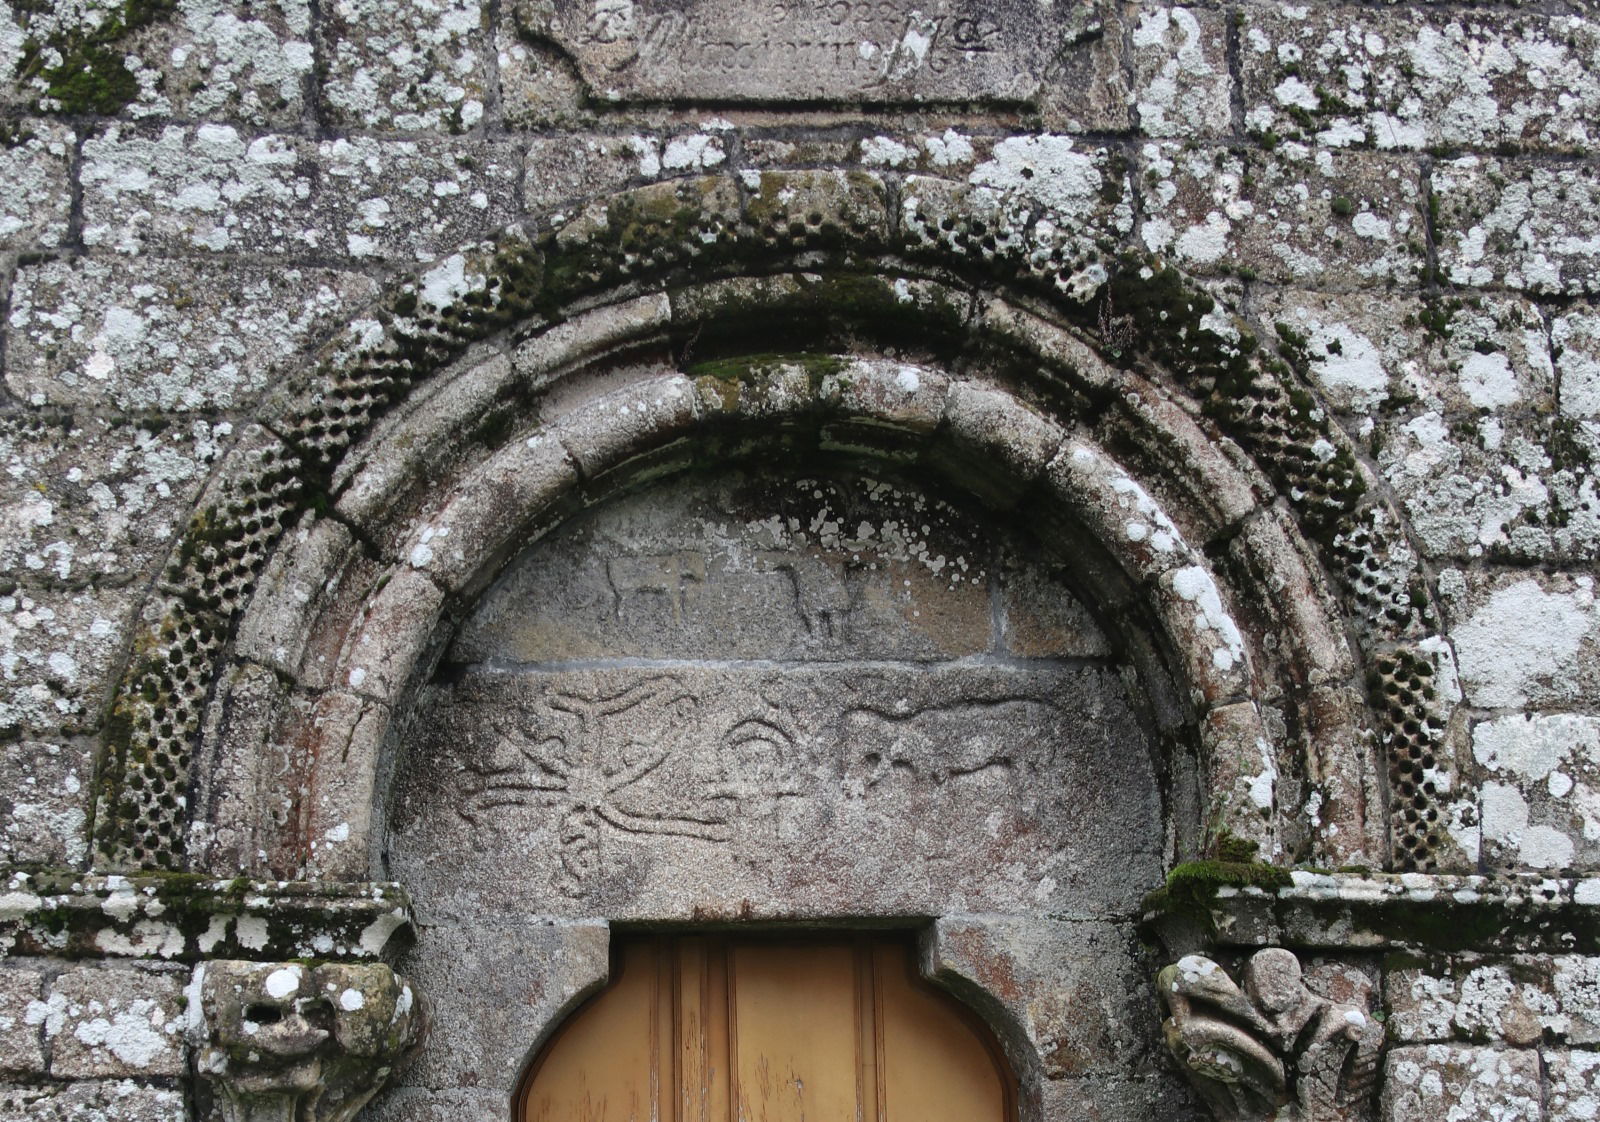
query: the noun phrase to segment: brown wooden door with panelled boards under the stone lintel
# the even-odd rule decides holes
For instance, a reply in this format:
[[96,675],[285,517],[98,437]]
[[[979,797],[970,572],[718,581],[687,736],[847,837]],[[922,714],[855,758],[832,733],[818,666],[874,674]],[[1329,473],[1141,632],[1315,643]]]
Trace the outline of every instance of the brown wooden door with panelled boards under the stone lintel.
[[907,940],[624,941],[523,1084],[520,1122],[1013,1122],[987,1031]]

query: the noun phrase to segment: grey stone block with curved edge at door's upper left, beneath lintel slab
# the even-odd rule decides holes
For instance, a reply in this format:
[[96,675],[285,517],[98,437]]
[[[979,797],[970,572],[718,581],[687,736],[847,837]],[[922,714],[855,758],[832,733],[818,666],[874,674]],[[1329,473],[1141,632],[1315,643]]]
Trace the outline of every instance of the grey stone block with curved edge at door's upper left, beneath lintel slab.
[[608,948],[592,920],[424,924],[402,967],[427,996],[432,1032],[402,1087],[491,1090],[504,1112],[528,1060],[605,984]]

